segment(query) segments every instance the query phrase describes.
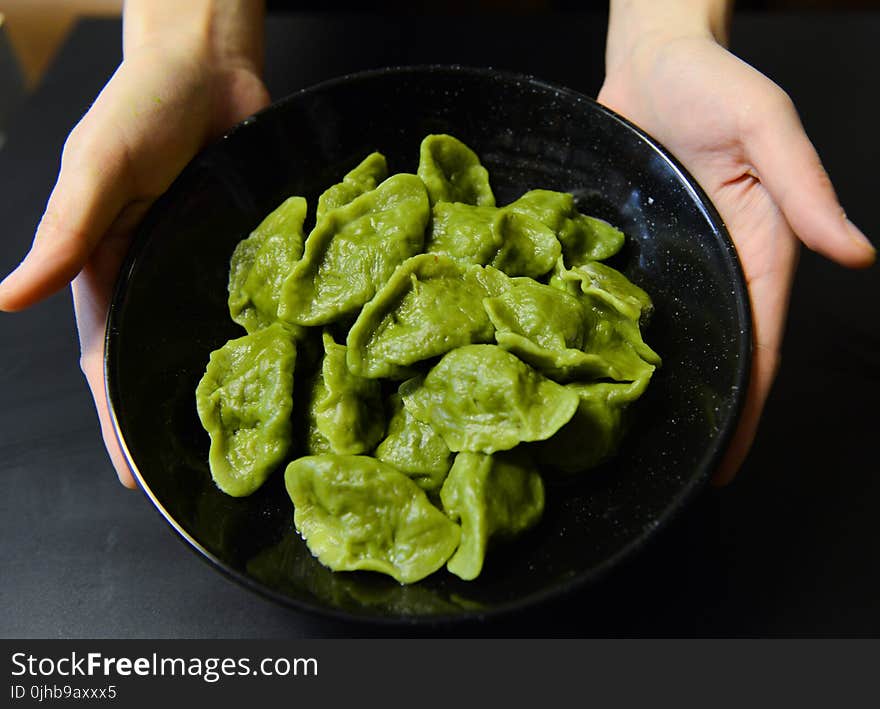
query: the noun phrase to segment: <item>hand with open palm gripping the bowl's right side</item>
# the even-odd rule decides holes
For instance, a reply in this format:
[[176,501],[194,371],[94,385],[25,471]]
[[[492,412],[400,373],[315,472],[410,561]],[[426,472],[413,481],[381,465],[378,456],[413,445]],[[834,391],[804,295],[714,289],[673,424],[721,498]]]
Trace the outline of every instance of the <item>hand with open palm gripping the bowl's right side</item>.
[[779,365],[799,241],[848,267],[875,256],[846,219],[788,96],[708,31],[613,42],[599,101],[657,138],[715,204],[736,245],[752,304],[751,382],[715,482],[751,447]]

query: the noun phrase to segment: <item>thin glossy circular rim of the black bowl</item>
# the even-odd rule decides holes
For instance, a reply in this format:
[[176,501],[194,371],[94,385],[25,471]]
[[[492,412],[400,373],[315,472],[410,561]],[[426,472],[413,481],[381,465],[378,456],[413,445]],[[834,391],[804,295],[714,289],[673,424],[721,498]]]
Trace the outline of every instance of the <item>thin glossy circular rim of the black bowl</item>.
[[[736,303],[736,313],[740,324],[739,340],[737,342],[737,366],[735,372],[735,380],[737,387],[734,394],[733,405],[730,408],[729,415],[719,426],[716,435],[703,456],[703,463],[699,467],[695,475],[690,476],[687,483],[675,494],[672,502],[666,506],[660,516],[649,525],[630,539],[623,547],[611,556],[607,557],[601,563],[589,569],[581,571],[574,576],[560,580],[547,588],[535,591],[515,600],[505,601],[493,605],[487,610],[463,609],[461,613],[438,613],[430,615],[399,615],[399,614],[381,614],[371,615],[369,613],[358,613],[356,611],[342,610],[320,603],[310,603],[308,601],[288,596],[279,591],[273,590],[268,586],[251,578],[247,574],[231,568],[226,562],[218,558],[214,553],[206,549],[197,539],[193,537],[183,526],[174,519],[165,506],[152,491],[147,481],[141,474],[138,466],[125,442],[122,433],[119,416],[117,415],[116,402],[119,401],[120,392],[117,387],[117,381],[112,363],[116,359],[118,334],[120,332],[119,322],[121,311],[125,300],[126,287],[131,279],[131,275],[137,265],[138,257],[143,250],[143,246],[149,239],[153,222],[156,215],[161,211],[161,207],[167,199],[168,195],[173,194],[174,187],[178,181],[182,180],[192,169],[194,163],[206,151],[217,149],[225,141],[234,138],[237,134],[247,130],[250,126],[259,123],[263,118],[283,106],[302,100],[311,94],[318,94],[331,90],[340,85],[346,85],[353,82],[363,81],[365,79],[381,78],[385,76],[403,76],[407,74],[423,75],[423,74],[448,74],[450,76],[466,76],[476,77],[480,79],[501,80],[505,83],[513,82],[520,85],[530,85],[542,91],[551,91],[556,95],[565,96],[568,99],[574,99],[576,103],[586,103],[591,106],[592,110],[598,110],[607,118],[621,124],[628,131],[635,133],[644,143],[648,145],[662,160],[667,163],[677,175],[680,183],[689,191],[702,211],[703,216],[709,221],[718,235],[718,241],[723,246],[723,252],[728,265],[733,273],[734,281],[731,284]],[[365,71],[351,72],[336,76],[310,86],[299,89],[290,93],[261,111],[245,118],[244,120],[231,127],[219,139],[206,145],[193,159],[184,167],[178,178],[168,187],[166,192],[161,195],[150,207],[144,219],[138,225],[125,259],[120,268],[119,276],[114,287],[113,296],[110,301],[109,311],[104,335],[104,383],[106,389],[106,402],[108,405],[110,420],[113,427],[113,433],[116,441],[122,450],[125,463],[132,473],[138,487],[152,502],[158,513],[165,519],[170,527],[177,533],[176,536],[181,542],[192,550],[199,558],[211,566],[213,569],[219,570],[226,578],[236,582],[237,584],[254,591],[260,596],[272,600],[282,606],[292,608],[300,612],[314,613],[337,621],[358,622],[367,624],[376,624],[383,626],[442,626],[469,621],[486,621],[501,616],[506,616],[517,611],[537,608],[549,601],[558,600],[563,596],[569,596],[577,590],[586,588],[587,586],[597,582],[605,577],[612,568],[620,566],[624,561],[633,558],[637,552],[644,549],[647,544],[655,539],[660,530],[665,529],[670,522],[675,519],[679,513],[687,507],[687,505],[696,497],[697,493],[706,485],[712,473],[717,468],[722,455],[727,450],[727,446],[733,436],[736,426],[738,425],[745,405],[746,394],[751,375],[751,363],[753,353],[753,323],[752,309],[749,298],[748,287],[746,285],[745,275],[737,255],[736,247],[727,231],[723,219],[718,213],[715,205],[709,199],[703,188],[697,183],[696,179],[687,171],[687,169],[671,154],[659,141],[651,137],[643,129],[629,121],[627,118],[616,113],[612,109],[602,105],[595,99],[584,93],[575,91],[566,86],[555,84],[536,76],[506,70],[494,69],[491,66],[477,67],[466,66],[461,64],[413,64],[413,65],[393,65],[381,67],[377,69],[369,69]]]

